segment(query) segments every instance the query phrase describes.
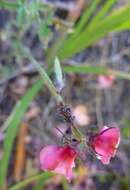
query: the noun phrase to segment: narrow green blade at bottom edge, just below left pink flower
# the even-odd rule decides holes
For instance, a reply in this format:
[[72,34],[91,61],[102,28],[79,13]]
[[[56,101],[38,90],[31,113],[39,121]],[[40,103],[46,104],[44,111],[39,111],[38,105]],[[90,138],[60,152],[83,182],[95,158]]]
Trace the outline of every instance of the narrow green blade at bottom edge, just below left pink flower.
[[[54,174],[50,173],[50,172],[41,173],[41,174],[38,174],[38,175],[35,175],[35,176],[32,176],[30,178],[25,179],[24,181],[22,181],[16,185],[14,185],[13,187],[9,188],[9,190],[20,190],[20,189],[22,190],[24,187],[26,187],[30,183],[32,183],[34,181],[38,182],[40,180],[43,181],[43,185],[44,185],[45,181],[52,176],[54,176]],[[37,189],[37,190],[39,190],[39,189]]]

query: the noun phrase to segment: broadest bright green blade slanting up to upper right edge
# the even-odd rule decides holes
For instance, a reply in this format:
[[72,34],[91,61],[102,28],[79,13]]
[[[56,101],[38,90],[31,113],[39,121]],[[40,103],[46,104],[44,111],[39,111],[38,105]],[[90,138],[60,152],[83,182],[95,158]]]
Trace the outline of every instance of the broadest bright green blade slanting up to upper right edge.
[[[73,39],[73,42],[70,43],[69,39],[66,40],[63,44],[63,47],[59,51],[59,58],[66,59],[74,54],[82,51],[84,48],[96,43],[98,40],[103,38],[110,32],[118,29],[122,31],[122,28],[119,28],[121,24],[130,20],[130,6],[121,7],[118,10],[113,11],[105,19],[97,22],[96,25],[87,27],[83,32],[78,34]],[[119,30],[120,29],[120,30]]]

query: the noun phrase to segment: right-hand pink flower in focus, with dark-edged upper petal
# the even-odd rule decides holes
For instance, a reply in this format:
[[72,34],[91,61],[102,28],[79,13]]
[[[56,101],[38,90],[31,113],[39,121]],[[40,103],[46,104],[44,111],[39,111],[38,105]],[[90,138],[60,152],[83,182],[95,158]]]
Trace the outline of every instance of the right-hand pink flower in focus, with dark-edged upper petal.
[[120,131],[117,127],[104,126],[101,132],[90,137],[90,145],[103,164],[109,164],[120,143]]

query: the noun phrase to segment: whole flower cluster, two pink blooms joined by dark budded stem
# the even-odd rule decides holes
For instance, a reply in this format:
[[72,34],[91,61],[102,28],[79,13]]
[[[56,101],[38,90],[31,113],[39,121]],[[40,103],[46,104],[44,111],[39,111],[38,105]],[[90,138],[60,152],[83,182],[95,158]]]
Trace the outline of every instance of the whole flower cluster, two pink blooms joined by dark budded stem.
[[41,169],[63,174],[68,181],[71,181],[72,168],[75,166],[76,157],[80,155],[79,145],[81,144],[92,150],[103,164],[109,164],[120,143],[119,128],[104,126],[97,134],[91,134],[88,138],[75,127],[74,117],[67,106],[61,105],[59,114],[69,125],[66,133],[63,134],[66,141],[62,146],[47,145],[41,150]]

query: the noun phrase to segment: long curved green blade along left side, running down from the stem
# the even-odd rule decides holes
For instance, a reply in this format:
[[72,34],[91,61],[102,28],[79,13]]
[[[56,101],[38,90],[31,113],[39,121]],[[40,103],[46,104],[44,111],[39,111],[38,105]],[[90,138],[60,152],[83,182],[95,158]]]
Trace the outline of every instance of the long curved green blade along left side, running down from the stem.
[[2,189],[6,180],[10,154],[19,124],[29,104],[41,89],[42,85],[42,81],[37,81],[32,86],[32,88],[27,91],[24,97],[16,104],[13,111],[11,112],[11,115],[4,123],[3,127],[6,129],[6,136],[4,140],[4,154],[2,160],[0,161],[0,189]]

